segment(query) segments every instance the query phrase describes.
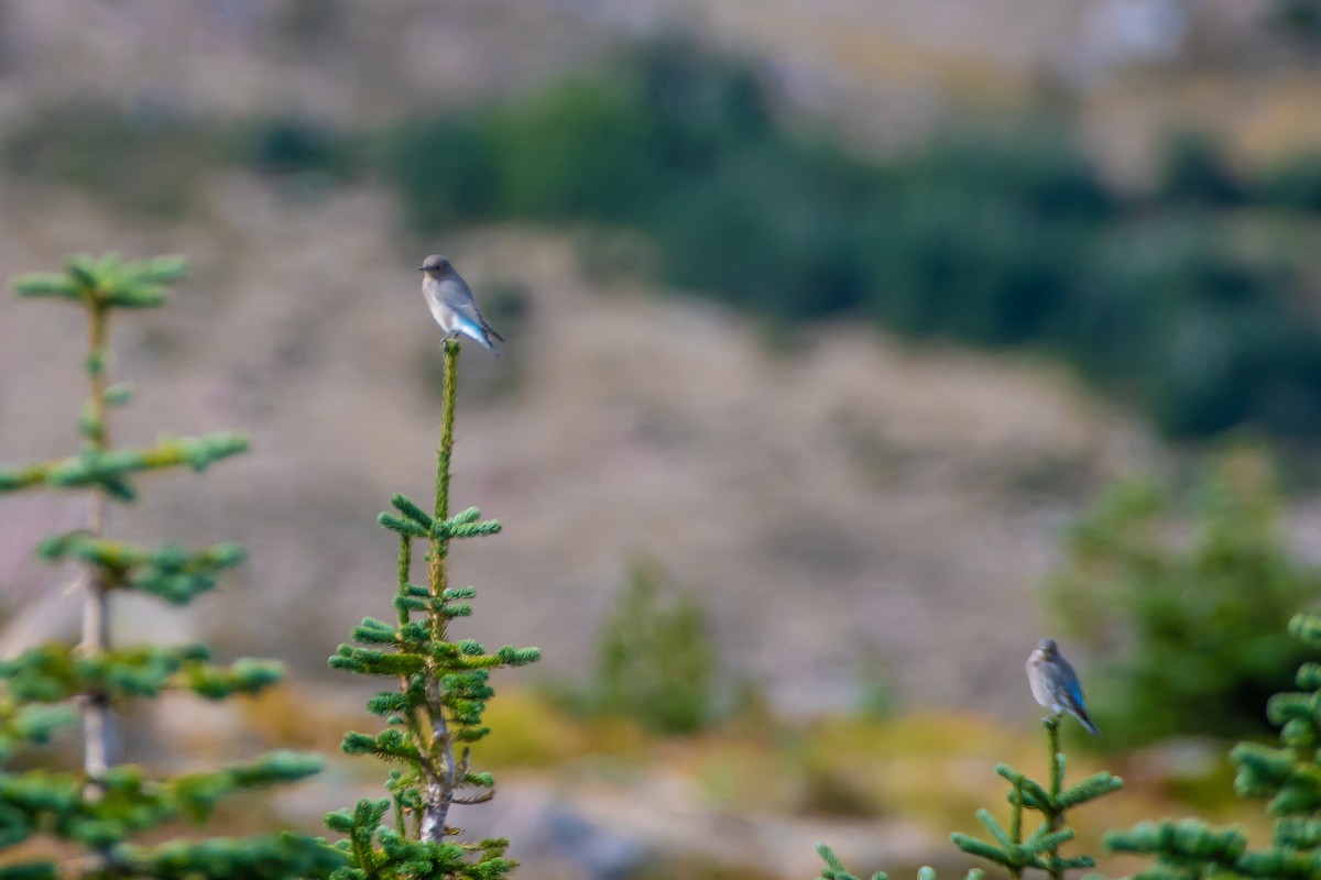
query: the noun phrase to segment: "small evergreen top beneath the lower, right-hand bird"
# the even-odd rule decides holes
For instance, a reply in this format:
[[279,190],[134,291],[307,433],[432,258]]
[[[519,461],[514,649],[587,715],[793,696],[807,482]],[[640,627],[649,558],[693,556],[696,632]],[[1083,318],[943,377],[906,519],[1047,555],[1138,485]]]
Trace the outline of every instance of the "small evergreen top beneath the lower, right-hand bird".
[[[995,772],[1004,777],[1011,786],[1007,796],[1011,806],[1009,829],[1005,830],[991,815],[989,810],[978,810],[978,822],[987,830],[991,840],[959,833],[950,835],[954,846],[968,855],[1003,867],[1015,879],[1021,877],[1028,868],[1044,871],[1052,880],[1062,880],[1066,871],[1091,868],[1095,864],[1091,856],[1059,854],[1059,847],[1074,838],[1073,830],[1065,827],[1066,815],[1069,810],[1124,786],[1124,781],[1118,776],[1102,772],[1065,788],[1065,755],[1059,751],[1059,716],[1048,718],[1044,722],[1049,748],[1049,788],[1008,764],[996,764]],[[1022,833],[1024,810],[1041,814],[1041,823],[1026,838]],[[830,847],[819,843],[816,851],[826,862],[826,869],[820,872],[818,880],[857,880],[857,876],[849,873]],[[877,871],[872,875],[872,880],[888,880],[888,876]],[[967,880],[980,880],[982,876],[980,868],[971,868]],[[918,880],[935,880],[935,871],[922,868],[918,872]]]

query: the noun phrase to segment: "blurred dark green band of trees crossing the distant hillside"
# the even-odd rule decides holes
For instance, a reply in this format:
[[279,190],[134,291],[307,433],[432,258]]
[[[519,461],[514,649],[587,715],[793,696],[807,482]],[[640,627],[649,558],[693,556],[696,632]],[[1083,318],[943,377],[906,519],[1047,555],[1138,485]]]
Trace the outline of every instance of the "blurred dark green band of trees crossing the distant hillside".
[[1058,107],[963,117],[864,156],[787,119],[756,66],[671,37],[517,99],[370,132],[79,107],[13,127],[3,154],[157,212],[186,204],[214,162],[295,195],[371,175],[420,235],[506,220],[609,228],[593,236],[602,248],[635,235],[650,249],[638,267],[786,336],[864,318],[911,339],[1028,347],[1170,437],[1321,434],[1321,260],[1306,235],[1321,152],[1244,169],[1181,133],[1135,191],[1069,128]]

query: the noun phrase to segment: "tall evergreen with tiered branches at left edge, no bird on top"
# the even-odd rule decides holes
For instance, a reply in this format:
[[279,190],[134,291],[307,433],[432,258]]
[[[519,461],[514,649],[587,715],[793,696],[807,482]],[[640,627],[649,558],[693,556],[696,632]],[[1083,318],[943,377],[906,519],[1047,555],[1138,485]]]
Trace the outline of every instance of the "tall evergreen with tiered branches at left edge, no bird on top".
[[[136,496],[132,478],[144,471],[188,466],[201,471],[243,451],[239,434],[201,438],[162,435],[149,449],[111,445],[110,408],[128,402],[129,391],[110,383],[108,326],[125,309],[152,309],[166,286],[185,273],[180,257],[125,263],[118,255],[71,257],[62,273],[20,276],[21,297],[77,305],[87,315],[89,351],[83,361],[90,396],[79,420],[82,451],[45,462],[0,468],[0,492],[28,488],[82,491],[91,508],[85,528],[55,534],[37,548],[46,562],[75,562],[83,569],[83,639],[78,646],[48,644],[0,661],[0,850],[37,835],[82,847],[85,858],[62,873],[79,877],[234,877],[269,879],[325,873],[342,856],[321,842],[292,834],[248,839],[176,840],[139,846],[131,838],[176,819],[202,821],[234,792],[276,785],[314,773],[320,759],[275,752],[221,770],[156,778],[145,768],[119,764],[111,726],[116,707],[165,690],[190,690],[207,699],[256,693],[280,677],[276,664],[239,660],[209,662],[206,645],[116,646],[110,603],[133,591],[185,604],[211,590],[219,573],[238,565],[243,550],[221,544],[197,551],[166,544],[147,548],[107,536],[111,503]],[[13,769],[20,749],[49,743],[82,714],[82,769]],[[49,859],[28,859],[0,868],[7,880],[57,876]]]

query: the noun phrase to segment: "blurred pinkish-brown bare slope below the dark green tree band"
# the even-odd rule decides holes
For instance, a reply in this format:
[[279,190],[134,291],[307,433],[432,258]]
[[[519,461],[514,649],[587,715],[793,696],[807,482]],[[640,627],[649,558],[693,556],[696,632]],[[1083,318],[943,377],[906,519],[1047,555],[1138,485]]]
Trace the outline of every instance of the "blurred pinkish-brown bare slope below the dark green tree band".
[[[161,482],[116,528],[180,540],[221,529],[247,544],[243,583],[203,600],[217,606],[207,629],[250,650],[296,615],[305,641],[284,653],[313,672],[345,621],[379,604],[390,538],[367,526],[382,487],[421,486],[437,340],[417,319],[412,267],[371,232],[390,228],[379,197],[308,208],[227,179],[213,198],[205,223],[168,239],[196,261],[190,296],[124,327],[119,368],[141,396],[123,433],[137,437],[133,422],[160,413],[181,433],[238,424],[258,454],[213,487],[205,515],[184,515],[202,521],[176,511],[184,479]],[[136,249],[95,219],[73,202],[11,226],[5,259],[71,230]],[[863,649],[921,702],[972,697],[989,683],[988,654],[905,670],[906,653],[976,640],[1020,665],[1053,528],[1135,442],[1036,369],[880,346],[847,327],[778,358],[728,313],[585,281],[564,241],[478,234],[449,251],[478,290],[528,292],[507,356],[465,356],[456,497],[498,513],[506,533],[465,548],[456,577],[486,584],[478,627],[539,640],[552,668],[580,669],[589,652],[580,624],[556,625],[563,602],[604,615],[631,558],[649,554],[700,588],[736,668],[777,702],[845,703],[839,669]],[[5,388],[4,453],[24,459],[67,429],[22,413],[67,412],[79,376],[42,355],[71,325],[4,309],[5,356],[24,364],[8,373],[24,381]],[[30,571],[24,533],[73,516],[20,511],[7,583]],[[240,621],[251,602],[264,613]],[[993,607],[1016,623],[988,631]],[[124,623],[152,631],[135,612]],[[826,681],[844,693],[822,693]]]

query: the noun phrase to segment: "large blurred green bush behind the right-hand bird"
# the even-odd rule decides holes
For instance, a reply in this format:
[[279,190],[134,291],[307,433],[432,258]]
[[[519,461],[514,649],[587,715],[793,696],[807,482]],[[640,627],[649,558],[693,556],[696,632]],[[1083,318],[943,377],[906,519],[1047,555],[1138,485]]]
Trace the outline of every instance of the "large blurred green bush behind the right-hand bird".
[[1189,495],[1185,519],[1170,486],[1116,484],[1048,586],[1069,633],[1116,658],[1087,682],[1106,747],[1264,734],[1267,699],[1309,656],[1285,627],[1317,606],[1321,569],[1291,554],[1267,460],[1227,454]]

